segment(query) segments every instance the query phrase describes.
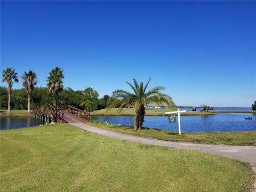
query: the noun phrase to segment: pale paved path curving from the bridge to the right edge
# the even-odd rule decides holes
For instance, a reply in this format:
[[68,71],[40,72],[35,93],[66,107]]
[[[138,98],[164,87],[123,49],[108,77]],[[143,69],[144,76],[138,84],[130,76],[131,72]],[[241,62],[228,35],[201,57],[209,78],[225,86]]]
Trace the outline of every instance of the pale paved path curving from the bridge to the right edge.
[[[243,162],[250,163],[253,166],[254,172],[256,173],[256,147],[253,147],[253,146],[207,145],[207,144],[163,141],[163,140],[143,138],[143,137],[137,137],[137,136],[128,135],[128,134],[117,133],[109,130],[100,129],[99,127],[87,125],[85,123],[69,123],[69,124],[79,127],[86,131],[106,135],[108,137],[113,137],[116,139],[146,143],[146,144],[157,145],[157,146],[174,147],[179,149],[191,149],[191,150],[203,151],[211,154],[223,155],[229,158],[234,158]],[[252,192],[256,192],[256,181],[254,182],[254,190]]]

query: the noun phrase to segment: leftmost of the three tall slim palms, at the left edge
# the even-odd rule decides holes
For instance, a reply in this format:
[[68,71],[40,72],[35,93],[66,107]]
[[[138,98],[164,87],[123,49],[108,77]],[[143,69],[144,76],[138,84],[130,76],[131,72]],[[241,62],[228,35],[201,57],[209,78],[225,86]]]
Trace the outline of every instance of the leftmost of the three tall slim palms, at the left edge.
[[7,93],[8,93],[8,110],[7,110],[7,115],[11,115],[11,91],[12,91],[12,85],[13,81],[14,82],[19,82],[18,79],[18,74],[14,72],[15,69],[13,68],[6,68],[3,70],[2,74],[2,82],[6,82],[8,84],[7,86]]

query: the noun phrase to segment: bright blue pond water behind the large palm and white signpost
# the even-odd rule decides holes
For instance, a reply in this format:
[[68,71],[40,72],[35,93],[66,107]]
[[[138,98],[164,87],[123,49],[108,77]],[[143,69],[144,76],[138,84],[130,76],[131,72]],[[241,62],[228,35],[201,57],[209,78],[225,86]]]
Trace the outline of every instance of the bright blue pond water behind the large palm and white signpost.
[[[252,116],[252,120],[245,117]],[[112,124],[133,125],[133,116],[92,116],[92,119]],[[181,131],[251,131],[256,130],[256,115],[242,113],[219,113],[218,115],[181,116]],[[176,123],[169,123],[167,116],[145,116],[144,127],[178,131]]]

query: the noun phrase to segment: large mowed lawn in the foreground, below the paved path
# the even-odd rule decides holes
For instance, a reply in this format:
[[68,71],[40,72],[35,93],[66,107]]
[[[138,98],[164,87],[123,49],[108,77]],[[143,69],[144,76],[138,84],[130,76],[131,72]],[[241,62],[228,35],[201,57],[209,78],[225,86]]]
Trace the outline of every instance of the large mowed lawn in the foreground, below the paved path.
[[250,191],[251,166],[67,124],[1,131],[1,191]]

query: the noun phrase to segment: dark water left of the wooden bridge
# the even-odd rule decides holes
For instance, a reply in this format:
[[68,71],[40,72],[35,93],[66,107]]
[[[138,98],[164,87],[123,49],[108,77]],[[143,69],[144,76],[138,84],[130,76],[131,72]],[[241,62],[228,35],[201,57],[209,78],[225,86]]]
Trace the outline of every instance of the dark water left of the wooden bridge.
[[1,130],[18,129],[39,124],[42,123],[33,117],[0,117]]

